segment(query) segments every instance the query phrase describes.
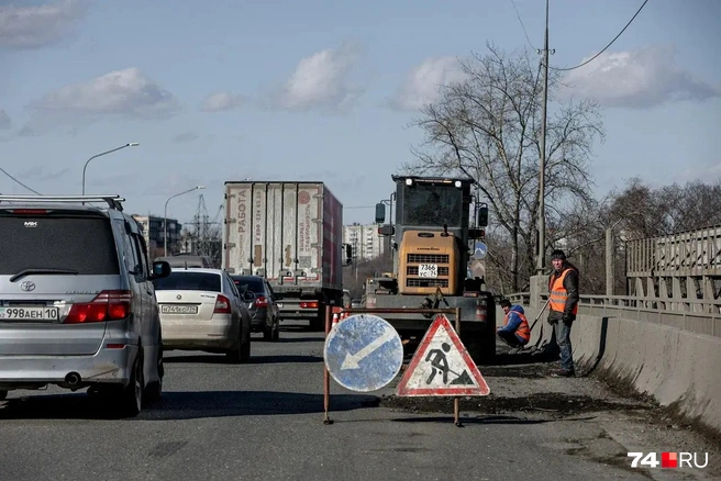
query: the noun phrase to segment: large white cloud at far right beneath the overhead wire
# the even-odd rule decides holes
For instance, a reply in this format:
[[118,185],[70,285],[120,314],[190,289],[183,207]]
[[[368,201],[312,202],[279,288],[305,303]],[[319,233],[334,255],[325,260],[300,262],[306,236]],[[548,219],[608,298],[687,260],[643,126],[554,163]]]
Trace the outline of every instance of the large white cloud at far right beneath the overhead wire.
[[674,61],[674,51],[664,47],[603,53],[587,66],[568,72],[565,82],[568,87],[562,91],[564,97],[590,98],[604,107],[631,109],[721,94],[720,86],[681,69]]

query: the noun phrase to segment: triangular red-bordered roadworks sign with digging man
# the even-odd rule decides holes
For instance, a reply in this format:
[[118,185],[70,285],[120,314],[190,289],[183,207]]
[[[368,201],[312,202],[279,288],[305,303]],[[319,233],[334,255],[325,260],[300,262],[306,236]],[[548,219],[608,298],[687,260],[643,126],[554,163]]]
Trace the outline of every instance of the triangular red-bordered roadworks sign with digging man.
[[396,395],[488,395],[490,389],[448,318],[439,314],[398,384]]

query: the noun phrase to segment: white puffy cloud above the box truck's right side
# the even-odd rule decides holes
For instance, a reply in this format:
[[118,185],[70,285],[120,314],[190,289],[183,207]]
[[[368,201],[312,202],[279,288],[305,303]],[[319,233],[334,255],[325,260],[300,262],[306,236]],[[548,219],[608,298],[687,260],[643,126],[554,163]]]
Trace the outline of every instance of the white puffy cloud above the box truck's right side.
[[276,105],[295,111],[313,108],[336,112],[351,110],[363,93],[350,78],[357,60],[358,49],[348,44],[302,58],[277,92]]

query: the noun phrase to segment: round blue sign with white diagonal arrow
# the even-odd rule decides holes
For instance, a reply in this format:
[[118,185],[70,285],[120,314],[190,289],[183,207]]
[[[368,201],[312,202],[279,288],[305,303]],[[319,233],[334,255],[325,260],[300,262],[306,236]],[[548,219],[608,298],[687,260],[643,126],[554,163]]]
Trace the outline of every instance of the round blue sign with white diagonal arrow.
[[323,357],[329,372],[342,387],[351,391],[377,391],[400,371],[403,345],[385,320],[355,314],[331,329]]

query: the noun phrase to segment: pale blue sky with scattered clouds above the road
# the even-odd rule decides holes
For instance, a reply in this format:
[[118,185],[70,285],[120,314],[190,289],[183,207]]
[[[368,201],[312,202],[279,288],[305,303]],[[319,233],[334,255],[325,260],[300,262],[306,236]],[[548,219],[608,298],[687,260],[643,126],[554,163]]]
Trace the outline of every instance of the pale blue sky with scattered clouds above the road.
[[[597,54],[642,2],[551,0],[551,66]],[[319,180],[344,223],[370,223],[458,59],[542,47],[544,15],[542,0],[0,0],[0,168],[79,193],[88,158],[138,143],[91,160],[86,191],[191,222],[226,180]],[[599,195],[721,178],[719,18],[717,0],[650,0],[565,74],[564,96],[602,108]],[[30,193],[2,172],[0,192]]]

